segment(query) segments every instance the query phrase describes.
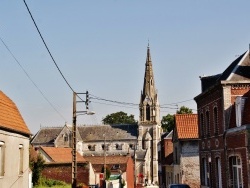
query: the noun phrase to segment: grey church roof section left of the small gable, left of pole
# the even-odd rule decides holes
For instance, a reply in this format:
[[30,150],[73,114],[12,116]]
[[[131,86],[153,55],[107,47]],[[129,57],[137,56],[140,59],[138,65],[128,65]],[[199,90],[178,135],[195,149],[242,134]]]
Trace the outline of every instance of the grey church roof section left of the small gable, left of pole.
[[42,127],[32,138],[31,144],[54,144],[63,127]]

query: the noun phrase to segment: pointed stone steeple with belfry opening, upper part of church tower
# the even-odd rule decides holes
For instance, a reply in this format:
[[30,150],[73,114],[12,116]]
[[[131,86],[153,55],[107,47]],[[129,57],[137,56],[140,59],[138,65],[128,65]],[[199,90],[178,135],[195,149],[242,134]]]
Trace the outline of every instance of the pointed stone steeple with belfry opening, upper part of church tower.
[[150,54],[150,47],[147,47],[147,57],[145,64],[145,74],[143,90],[140,101],[140,121],[141,122],[158,122],[159,121],[159,104],[157,92],[155,89],[155,80],[153,66]]

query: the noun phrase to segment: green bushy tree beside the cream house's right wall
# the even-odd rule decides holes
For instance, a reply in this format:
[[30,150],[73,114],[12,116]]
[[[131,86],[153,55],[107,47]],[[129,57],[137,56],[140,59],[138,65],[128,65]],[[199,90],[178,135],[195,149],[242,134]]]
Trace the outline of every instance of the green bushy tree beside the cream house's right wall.
[[29,166],[33,173],[32,183],[33,185],[38,185],[39,180],[42,177],[42,170],[44,169],[45,161],[40,154],[37,154],[37,152],[32,146],[30,146],[29,149],[29,158],[30,158]]

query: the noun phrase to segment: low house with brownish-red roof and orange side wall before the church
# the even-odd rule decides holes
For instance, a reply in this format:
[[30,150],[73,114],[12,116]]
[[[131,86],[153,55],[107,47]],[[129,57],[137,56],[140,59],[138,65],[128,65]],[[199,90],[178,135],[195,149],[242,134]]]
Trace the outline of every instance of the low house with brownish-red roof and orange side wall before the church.
[[111,176],[120,176],[121,181],[124,180],[125,187],[134,187],[134,161],[130,155],[88,156],[84,159],[92,165],[95,172],[95,180],[91,182],[92,184],[102,184],[101,180],[104,178],[102,169],[107,166],[107,169],[110,169]]

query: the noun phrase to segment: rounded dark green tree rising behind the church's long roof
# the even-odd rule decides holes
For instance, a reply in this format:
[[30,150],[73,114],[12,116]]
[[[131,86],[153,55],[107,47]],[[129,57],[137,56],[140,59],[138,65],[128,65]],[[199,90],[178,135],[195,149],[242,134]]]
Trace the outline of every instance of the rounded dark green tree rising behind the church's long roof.
[[105,118],[102,119],[104,124],[135,124],[134,115],[130,114],[128,116],[125,112],[116,112],[112,114],[108,114]]

